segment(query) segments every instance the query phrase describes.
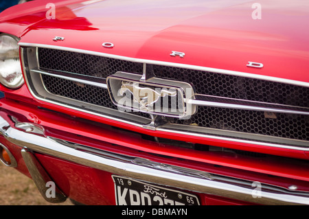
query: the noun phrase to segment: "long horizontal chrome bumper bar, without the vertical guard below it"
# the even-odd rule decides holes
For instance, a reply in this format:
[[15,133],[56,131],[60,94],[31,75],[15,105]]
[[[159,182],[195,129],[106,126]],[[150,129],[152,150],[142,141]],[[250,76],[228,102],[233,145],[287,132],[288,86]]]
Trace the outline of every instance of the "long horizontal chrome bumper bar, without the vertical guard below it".
[[[246,187],[244,183],[234,184],[235,181],[231,183],[230,178],[225,182],[226,176],[221,176],[220,180],[216,181],[216,177],[207,172],[202,172],[202,174],[196,172],[192,175],[195,170],[188,168],[153,163],[146,159],[131,158],[128,160],[128,157],[123,157],[121,154],[114,156],[115,154],[110,152],[104,152],[105,154],[98,154],[95,151],[87,152],[81,150],[82,148],[77,148],[74,143],[63,140],[55,141],[49,137],[17,130],[10,126],[3,117],[0,117],[0,135],[16,146],[27,147],[27,150],[141,181],[263,205],[309,205],[309,196],[306,192],[288,191],[275,187],[273,190],[268,190],[268,188],[262,190],[261,196],[254,198],[254,187]],[[29,155],[31,154],[27,154]]]

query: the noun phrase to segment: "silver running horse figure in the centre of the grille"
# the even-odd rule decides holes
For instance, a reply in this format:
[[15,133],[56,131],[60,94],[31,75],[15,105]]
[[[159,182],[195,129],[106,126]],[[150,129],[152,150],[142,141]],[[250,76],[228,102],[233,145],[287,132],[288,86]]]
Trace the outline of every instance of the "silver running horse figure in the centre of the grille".
[[177,91],[168,91],[167,89],[160,89],[155,91],[149,87],[139,87],[137,82],[124,82],[122,81],[122,87],[119,89],[119,95],[124,95],[128,91],[133,96],[133,102],[139,104],[140,109],[151,111],[151,107],[159,100],[160,97],[176,96]]

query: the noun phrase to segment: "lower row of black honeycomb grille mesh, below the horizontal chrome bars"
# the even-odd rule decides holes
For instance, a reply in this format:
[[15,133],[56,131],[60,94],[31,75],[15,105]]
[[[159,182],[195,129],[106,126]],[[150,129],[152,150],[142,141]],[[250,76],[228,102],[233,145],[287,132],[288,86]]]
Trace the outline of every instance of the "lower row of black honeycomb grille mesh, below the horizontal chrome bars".
[[[43,75],[42,78],[49,93],[117,110],[117,106],[111,102],[107,89],[88,84],[78,84],[52,76]],[[133,113],[135,115],[149,117],[147,113]],[[165,119],[172,124],[216,128],[309,141],[308,115],[199,106],[197,113],[192,115],[190,119],[176,119],[171,117],[165,117]]]

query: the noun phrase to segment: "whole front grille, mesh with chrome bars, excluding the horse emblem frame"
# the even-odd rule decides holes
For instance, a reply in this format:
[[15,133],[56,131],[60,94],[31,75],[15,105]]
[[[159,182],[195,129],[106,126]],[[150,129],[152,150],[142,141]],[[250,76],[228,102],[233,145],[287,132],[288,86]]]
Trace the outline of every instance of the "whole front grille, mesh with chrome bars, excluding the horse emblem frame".
[[[28,54],[27,54],[28,53]],[[29,49],[27,58],[31,57]],[[222,130],[218,135],[231,136],[230,132],[244,133],[242,139],[251,139],[252,135],[258,141],[277,143],[276,137],[286,140],[295,139],[290,142],[297,146],[309,147],[309,89],[292,84],[258,80],[254,78],[244,78],[231,76],[221,73],[213,73],[196,69],[185,69],[163,65],[153,65],[141,62],[131,62],[128,60],[117,60],[92,54],[80,54],[73,51],[61,51],[57,49],[38,48],[38,66],[30,67],[32,76],[28,74],[28,85],[32,87],[34,93],[46,100],[60,102],[57,98],[65,97],[65,100],[78,100],[70,102],[70,105],[81,107],[87,110],[87,104],[103,106],[117,111],[108,95],[106,87],[93,86],[91,83],[83,84],[72,81],[70,78],[61,78],[59,75],[78,78],[80,75],[87,81],[104,81],[106,78],[117,71],[126,71],[142,74],[144,71],[157,78],[168,78],[170,80],[189,82],[194,87],[196,97],[201,96],[201,100],[211,100],[215,104],[223,102],[223,107],[217,106],[198,106],[196,114],[190,119],[176,119],[166,117],[165,122],[170,125],[183,126],[182,130],[190,130],[187,127],[201,128],[202,133],[207,134],[207,128]],[[50,71],[49,71],[50,70]],[[55,72],[53,72],[55,71]],[[40,75],[38,77],[37,75]],[[90,77],[89,77],[90,76]],[[41,78],[41,79],[40,79]],[[100,79],[100,80],[99,80]],[[41,80],[42,87],[32,85],[32,80]],[[47,91],[44,93],[43,89]],[[55,95],[55,96],[53,96]],[[61,100],[61,102],[65,102]],[[80,104],[80,102],[84,104]],[[249,110],[238,108],[239,104],[248,104]],[[229,107],[238,104],[236,108]],[[262,106],[266,110],[255,110],[251,106]],[[101,113],[106,113],[104,108]],[[272,111],[275,108],[275,111]],[[284,113],[292,110],[292,113]],[[299,113],[300,112],[300,113]],[[130,113],[129,113],[130,114]],[[113,113],[110,113],[113,117]],[[132,113],[149,119],[147,113]],[[135,121],[130,117],[130,121]],[[148,120],[149,121],[149,120]],[[164,127],[164,126],[161,126]],[[206,128],[206,129],[203,129]],[[266,138],[264,138],[266,137]],[[267,138],[275,137],[275,139]],[[238,135],[238,138],[239,135]],[[298,142],[298,141],[301,142]],[[280,141],[284,142],[284,141]]]

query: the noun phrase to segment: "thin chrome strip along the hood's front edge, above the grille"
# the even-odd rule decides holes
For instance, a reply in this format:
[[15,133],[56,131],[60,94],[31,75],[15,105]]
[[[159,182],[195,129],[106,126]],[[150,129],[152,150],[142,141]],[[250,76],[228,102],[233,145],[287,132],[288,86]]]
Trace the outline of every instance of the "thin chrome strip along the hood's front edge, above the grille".
[[89,51],[89,50],[84,50],[84,49],[74,49],[70,47],[61,47],[61,46],[54,46],[54,45],[45,45],[45,44],[38,44],[38,43],[19,43],[20,46],[22,47],[43,47],[47,49],[62,49],[65,51],[74,51],[78,53],[83,53],[83,54],[90,54],[90,55],[95,55],[95,56],[104,56],[107,58],[117,58],[120,60],[127,60],[131,62],[144,62],[146,64],[152,64],[152,65],[165,65],[169,67],[182,67],[182,68],[187,68],[187,69],[194,69],[194,70],[200,70],[200,71],[210,71],[214,73],[224,73],[227,75],[232,75],[232,76],[241,76],[241,77],[246,77],[246,78],[256,78],[256,79],[261,79],[261,80],[268,80],[268,81],[273,81],[273,82],[281,82],[285,84],[294,84],[302,87],[309,87],[309,82],[301,82],[297,80],[289,80],[289,79],[284,79],[284,78],[276,78],[272,76],[261,76],[261,75],[256,75],[253,73],[246,73],[246,72],[240,72],[240,71],[231,71],[231,70],[225,70],[225,69],[216,69],[216,68],[211,68],[211,67],[201,67],[201,66],[195,66],[195,65],[187,65],[187,64],[181,64],[181,63],[174,63],[174,62],[164,62],[164,61],[157,61],[157,60],[146,60],[146,59],[141,59],[141,58],[130,58],[126,56],[119,56],[119,55],[113,55],[113,54],[106,54],[98,51]]

